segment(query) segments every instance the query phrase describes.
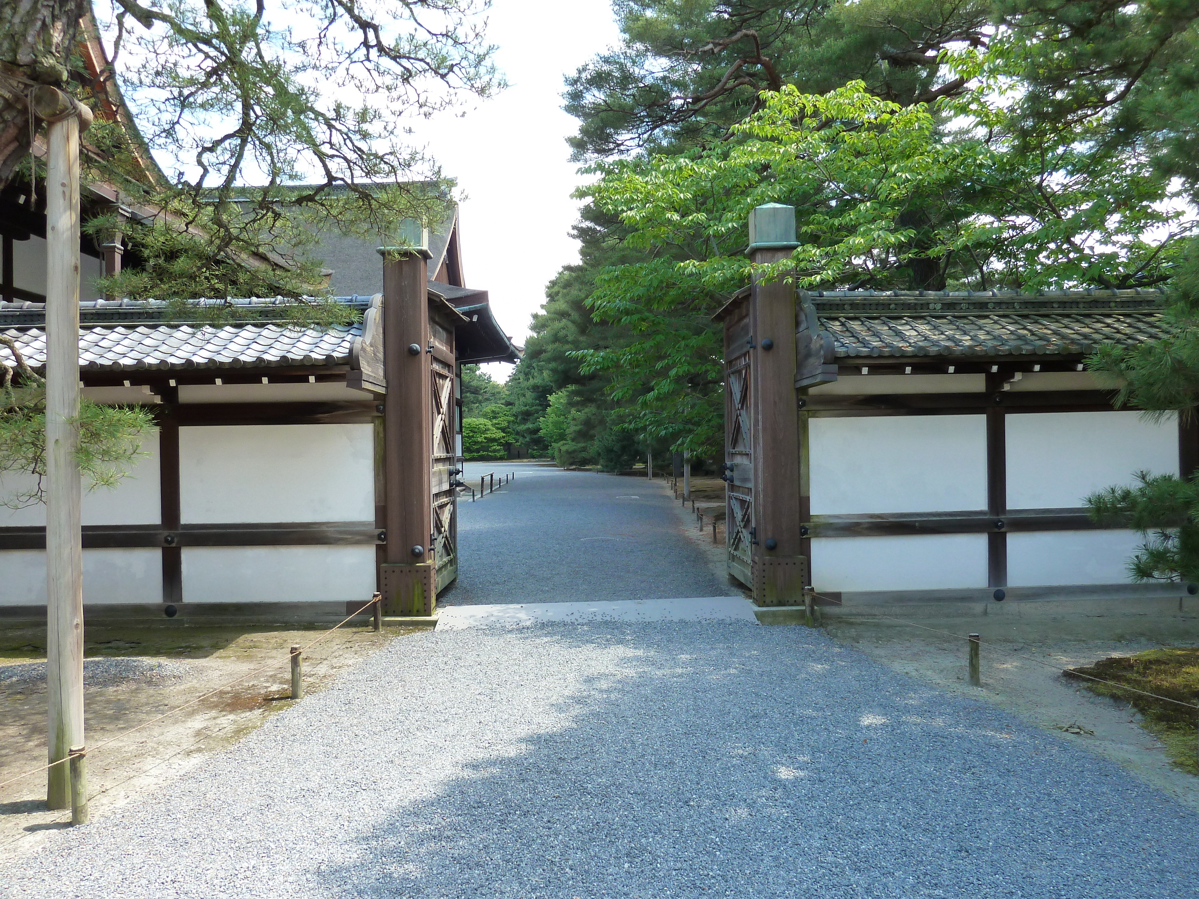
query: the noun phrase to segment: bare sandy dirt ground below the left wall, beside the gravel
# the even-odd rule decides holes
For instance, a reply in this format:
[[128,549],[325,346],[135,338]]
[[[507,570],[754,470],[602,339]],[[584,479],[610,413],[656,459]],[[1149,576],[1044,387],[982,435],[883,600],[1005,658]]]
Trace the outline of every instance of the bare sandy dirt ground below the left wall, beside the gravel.
[[[181,664],[182,676],[84,689],[89,746],[149,722],[229,681],[249,675],[189,708],[100,749],[88,758],[94,819],[169,782],[204,758],[291,705],[289,647],[326,630],[270,627],[92,627],[85,658],[135,657]],[[408,629],[347,625],[305,654],[305,692]],[[46,659],[44,627],[0,628],[0,665]],[[265,665],[265,668],[263,668]],[[263,668],[263,670],[257,670]],[[0,681],[0,783],[46,764],[46,682]],[[44,833],[68,826],[71,811],[46,809],[46,774],[0,788],[0,861],[37,846]]]

